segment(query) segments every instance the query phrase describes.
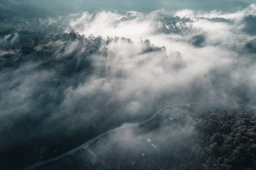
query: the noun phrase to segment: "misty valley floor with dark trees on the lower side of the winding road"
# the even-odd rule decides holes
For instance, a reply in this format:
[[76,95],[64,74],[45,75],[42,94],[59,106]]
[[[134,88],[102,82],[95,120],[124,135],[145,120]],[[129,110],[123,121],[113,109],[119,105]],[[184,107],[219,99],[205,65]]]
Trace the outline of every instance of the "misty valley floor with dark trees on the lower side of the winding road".
[[113,132],[35,170],[253,170],[253,110],[214,113],[220,109],[214,105],[167,107],[148,123]]

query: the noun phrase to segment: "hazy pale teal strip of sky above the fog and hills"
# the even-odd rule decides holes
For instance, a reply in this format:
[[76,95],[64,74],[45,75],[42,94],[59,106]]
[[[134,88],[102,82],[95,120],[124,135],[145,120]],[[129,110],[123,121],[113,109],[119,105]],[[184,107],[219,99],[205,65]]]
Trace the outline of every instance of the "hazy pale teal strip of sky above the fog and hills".
[[[231,11],[237,9],[238,7],[246,7],[249,4],[254,3],[254,0],[58,0],[58,1],[40,1],[40,0],[17,0],[19,2],[30,2],[35,4],[40,4],[45,7],[51,8],[52,4],[59,3],[69,4],[81,11],[90,10],[92,8],[97,8],[100,10],[119,10],[119,11],[140,11],[140,12],[150,12],[157,9],[167,9],[167,10],[180,10],[180,9],[194,9],[194,10],[222,10]],[[59,8],[60,5],[59,5]],[[57,7],[54,7],[57,9]]]

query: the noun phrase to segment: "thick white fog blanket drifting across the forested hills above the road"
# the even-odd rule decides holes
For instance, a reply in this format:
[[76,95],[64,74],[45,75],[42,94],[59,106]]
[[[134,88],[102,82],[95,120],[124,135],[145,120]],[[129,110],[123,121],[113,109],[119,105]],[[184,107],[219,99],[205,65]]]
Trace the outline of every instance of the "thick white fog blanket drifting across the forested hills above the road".
[[[99,53],[85,56],[90,47],[68,40],[38,46],[35,51],[54,49],[53,53],[46,53],[47,56],[39,59],[33,58],[37,57],[33,52],[20,54],[27,58],[20,63],[13,62],[17,64],[15,69],[2,67],[9,70],[0,75],[4,98],[0,100],[1,114],[45,112],[50,116],[43,122],[44,126],[60,120],[69,126],[72,117],[81,127],[86,126],[84,122],[97,122],[97,126],[106,128],[134,121],[137,116],[148,117],[162,106],[172,104],[220,101],[234,107],[245,97],[249,100],[243,104],[253,104],[256,101],[256,77],[252,74],[256,71],[255,53],[246,49],[246,44],[256,36],[243,31],[243,17],[254,12],[255,5],[251,5],[236,13],[189,9],[175,13],[161,9],[148,14],[132,11],[132,15],[136,15],[132,19],[123,18],[126,15],[117,11],[76,13],[58,18],[61,20],[58,22],[49,19],[48,24],[63,22],[58,28],[63,27],[67,32],[74,30],[87,37],[94,34],[103,38],[119,36],[120,39],[99,47],[99,51],[104,46],[108,48],[108,57]],[[176,15],[181,18],[186,15],[192,21],[177,19],[177,28],[173,28],[177,32],[161,31]],[[229,20],[209,20],[220,17]],[[168,28],[171,26],[169,24]],[[12,42],[18,35],[10,36],[14,37],[9,38]],[[121,37],[134,42],[122,42]],[[156,46],[165,46],[166,52],[148,52],[150,45],[141,44],[141,37]],[[115,56],[110,55],[112,53]],[[30,58],[38,64],[26,63]],[[84,62],[82,69],[77,69],[79,62],[85,59],[90,59],[91,65]],[[46,71],[47,64],[52,69]],[[244,96],[238,94],[241,89]],[[112,125],[113,122],[118,123]],[[181,129],[185,133],[187,127]],[[132,130],[127,133],[133,137]]]

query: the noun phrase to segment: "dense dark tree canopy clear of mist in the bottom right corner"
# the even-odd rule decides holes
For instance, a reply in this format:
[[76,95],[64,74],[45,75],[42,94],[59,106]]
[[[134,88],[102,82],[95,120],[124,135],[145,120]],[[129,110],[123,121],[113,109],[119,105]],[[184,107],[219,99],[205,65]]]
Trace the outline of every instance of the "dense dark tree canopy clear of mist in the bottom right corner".
[[[220,112],[200,119],[195,124],[207,153],[206,166],[220,170],[255,169],[254,138],[256,117],[250,110],[241,113]],[[214,123],[216,122],[216,123]],[[209,131],[208,129],[212,129]],[[203,128],[205,127],[205,128]],[[254,132],[255,131],[255,132]]]

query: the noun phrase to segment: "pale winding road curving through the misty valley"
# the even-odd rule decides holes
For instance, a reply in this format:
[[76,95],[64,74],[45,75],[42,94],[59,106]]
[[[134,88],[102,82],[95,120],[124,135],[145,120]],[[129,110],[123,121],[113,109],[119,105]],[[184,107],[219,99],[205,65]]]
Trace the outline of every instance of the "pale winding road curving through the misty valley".
[[[180,104],[180,106],[184,106],[184,105],[189,105],[189,104],[204,104],[204,103],[218,103],[218,102],[197,102],[197,103],[186,103],[186,104]],[[85,142],[84,144],[82,144],[81,146],[77,147],[77,148],[74,148],[73,150],[70,150],[62,155],[59,155],[55,158],[52,158],[52,159],[47,159],[45,161],[42,161],[42,162],[38,162],[38,163],[35,163],[31,166],[28,166],[27,168],[24,168],[23,170],[30,170],[30,169],[33,169],[33,168],[36,168],[38,166],[41,166],[43,164],[46,164],[46,163],[49,163],[49,162],[52,162],[52,161],[56,161],[58,159],[61,159],[62,157],[65,157],[67,155],[72,155],[73,153],[75,153],[76,151],[80,150],[80,149],[83,149],[83,148],[87,148],[91,143],[93,143],[94,141],[98,140],[99,138],[111,133],[111,132],[114,132],[114,131],[117,131],[117,130],[120,130],[120,129],[123,129],[123,128],[128,128],[128,127],[133,127],[133,126],[137,126],[137,125],[141,125],[141,124],[144,124],[148,121],[151,121],[152,119],[154,119],[157,114],[160,114],[162,110],[164,110],[165,108],[168,108],[168,107],[172,107],[172,106],[164,106],[162,108],[160,108],[159,110],[156,111],[156,113],[154,115],[152,115],[149,119],[146,119],[144,121],[141,121],[139,122],[138,124],[128,124],[126,126],[121,126],[121,127],[118,127],[118,128],[114,128],[114,129],[111,129],[111,130],[108,130],[106,132],[103,132],[101,133],[100,135],[98,135],[97,137],[94,137],[93,139],[90,139],[89,141]]]

